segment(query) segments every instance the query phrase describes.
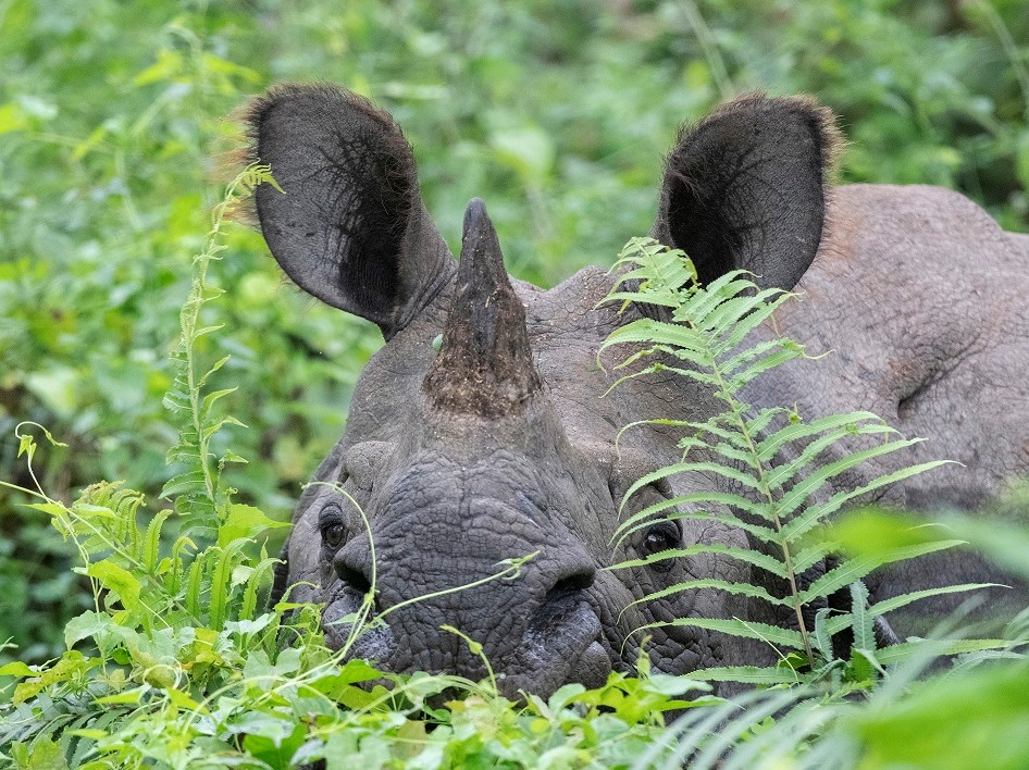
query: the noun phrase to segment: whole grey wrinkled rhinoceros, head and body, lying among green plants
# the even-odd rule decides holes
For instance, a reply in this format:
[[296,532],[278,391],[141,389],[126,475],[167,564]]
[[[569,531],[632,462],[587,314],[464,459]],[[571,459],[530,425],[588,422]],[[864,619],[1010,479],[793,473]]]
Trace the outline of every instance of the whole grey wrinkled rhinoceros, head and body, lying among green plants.
[[[530,554],[518,580],[400,608],[351,654],[397,672],[483,676],[480,658],[439,629],[446,623],[482,643],[504,692],[547,694],[629,668],[641,636],[630,632],[646,623],[685,616],[791,622],[706,589],[631,604],[699,578],[781,588],[731,559],[605,569],[680,543],[749,545],[740,531],[687,521],[656,522],[610,546],[628,486],[678,458],[674,438],[650,427],[627,432],[616,451],[618,430],[646,418],[704,419],[718,408],[679,377],[641,377],[604,396],[610,365],[631,351],[607,356],[598,369],[600,343],[654,308],[597,308],[612,281],[599,269],[550,290],[509,283],[478,201],[466,214],[459,272],[418,195],[402,135],[354,95],[278,87],[253,102],[249,121],[253,158],[271,163],[286,192],[269,185],[257,192],[272,253],[302,288],[372,320],[387,339],[317,474],[360,504],[374,566],[347,496],[312,486],[297,507],[278,581],[280,591],[297,581],[318,586],[293,596],[325,603],[331,643],[346,637],[338,621],[373,579],[381,612]],[[680,136],[653,234],[685,249],[705,281],[742,266],[763,285],[803,294],[758,334],[778,330],[811,352],[834,352],[780,368],[758,381],[749,401],[795,402],[808,418],[868,409],[906,435],[931,438],[841,485],[895,467],[889,463],[946,457],[964,465],[910,480],[888,499],[975,505],[1029,465],[1029,238],[1002,232],[942,189],[852,185],[830,194],[835,141],[831,116],[805,100],[748,97],[722,108]],[[629,512],[716,484],[680,476],[645,487]],[[958,557],[920,560],[875,592],[981,578],[977,570]],[[696,629],[649,633],[652,660],[671,673],[774,658],[761,645]]]

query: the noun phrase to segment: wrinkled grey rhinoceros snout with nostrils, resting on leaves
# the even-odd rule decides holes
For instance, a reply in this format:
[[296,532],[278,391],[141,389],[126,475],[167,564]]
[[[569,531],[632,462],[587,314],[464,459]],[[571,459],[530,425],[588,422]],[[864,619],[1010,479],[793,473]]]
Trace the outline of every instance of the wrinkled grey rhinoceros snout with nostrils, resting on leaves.
[[[402,560],[385,554],[376,564],[373,573],[367,542],[348,544],[333,561],[338,581],[323,616],[331,646],[347,643],[351,626],[344,619],[375,582],[372,622],[350,641],[351,657],[394,673],[430,671],[473,681],[487,675],[485,657],[509,697],[520,690],[547,694],[567,682],[599,685],[611,670],[591,598],[595,567],[575,549],[541,549],[517,576],[492,576],[503,571],[495,559],[460,552],[408,554]],[[455,574],[481,576],[455,585]],[[443,626],[481,644],[481,655]]]

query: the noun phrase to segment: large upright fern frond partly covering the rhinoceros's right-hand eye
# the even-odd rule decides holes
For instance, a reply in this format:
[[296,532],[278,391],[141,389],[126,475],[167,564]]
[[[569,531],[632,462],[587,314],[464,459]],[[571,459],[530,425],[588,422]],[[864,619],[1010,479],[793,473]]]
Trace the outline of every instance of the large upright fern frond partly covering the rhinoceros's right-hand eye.
[[[768,552],[763,550],[757,556],[745,549],[696,544],[648,559],[625,561],[611,569],[701,554],[723,554],[782,578],[789,584],[785,598],[772,597],[757,585],[701,579],[668,586],[639,601],[660,600],[682,592],[708,588],[788,606],[796,616],[796,630],[748,625],[743,621],[682,619],[678,622],[749,638],[778,639],[783,646],[803,650],[809,666],[815,665],[816,658],[805,611],[811,603],[823,600],[850,585],[854,609],[846,619],[831,618],[828,610],[816,614],[817,638],[814,642],[826,662],[807,675],[839,678],[843,667],[848,667],[846,675],[865,679],[861,671],[873,672],[879,662],[875,658],[878,653],[871,625],[875,608],[868,607],[867,592],[859,583],[860,579],[885,563],[947,548],[957,541],[920,543],[845,559],[802,589],[799,575],[838,548],[831,537],[816,539],[809,535],[847,502],[942,463],[926,462],[880,474],[856,489],[838,488],[843,474],[908,449],[921,439],[898,436],[895,429],[868,411],[805,422],[796,409],[755,409],[742,400],[740,394],[755,380],[789,361],[806,357],[803,346],[790,339],[766,338],[753,345],[746,341],[748,335],[765,324],[793,295],[776,288],[763,289],[745,271],[730,271],[706,286],[699,286],[696,271],[685,254],[662,249],[648,239],[634,239],[625,246],[619,268],[625,266],[630,266],[623,276],[625,281],[608,299],[671,308],[672,322],[633,321],[605,340],[602,350],[617,345],[635,346],[616,367],[647,364],[620,378],[612,387],[629,378],[653,373],[678,374],[707,388],[711,397],[724,403],[724,409],[703,422],[661,420],[659,424],[683,431],[678,442],[682,459],[631,485],[622,498],[620,513],[641,488],[674,476],[710,480],[727,492],[679,495],[647,506],[628,517],[617,527],[612,541],[621,546],[627,537],[652,525],[658,518],[698,520],[747,532],[767,546]],[[630,282],[637,283],[635,290],[627,288]],[[677,360],[683,365],[677,365]],[[858,448],[847,446],[854,439],[861,442]],[[697,506],[701,510],[677,510],[680,505]],[[715,505],[728,510],[709,510]],[[867,654],[868,660],[854,658],[851,663],[834,660],[832,635],[855,623],[858,628],[855,629],[854,648],[864,650],[859,655]]]

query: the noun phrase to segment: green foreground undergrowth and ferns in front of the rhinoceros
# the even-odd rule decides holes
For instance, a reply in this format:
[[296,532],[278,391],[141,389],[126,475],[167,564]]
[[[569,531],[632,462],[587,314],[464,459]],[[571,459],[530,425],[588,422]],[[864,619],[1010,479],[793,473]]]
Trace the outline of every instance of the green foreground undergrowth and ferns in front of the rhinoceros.
[[[33,462],[40,448],[57,440],[35,423],[17,427],[32,480],[18,492],[50,518],[75,552],[75,571],[91,586],[91,607],[67,623],[66,651],[60,657],[0,668],[5,684],[0,760],[20,768],[288,768],[320,760],[327,767],[361,768],[965,767],[1004,743],[978,765],[1014,768],[1029,761],[1029,745],[1002,741],[1029,715],[1029,667],[1019,653],[1029,618],[1019,616],[996,638],[975,639],[949,628],[935,638],[883,648],[876,642],[875,616],[919,597],[870,606],[860,583],[879,564],[956,542],[972,543],[1002,563],[1014,562],[1012,569],[1029,578],[1017,559],[1019,547],[1029,548],[1029,534],[999,539],[963,519],[949,522],[946,531],[916,531],[912,522],[876,512],[861,521],[872,522],[877,549],[861,552],[869,537],[859,523],[836,527],[831,538],[813,537],[826,517],[875,488],[815,495],[832,476],[815,463],[818,447],[854,437],[877,442],[844,455],[843,465],[830,465],[839,470],[877,452],[901,450],[910,440],[893,436],[865,413],[805,423],[795,411],[746,408],[740,394],[749,380],[803,355],[789,340],[740,347],[785,296],[754,294],[740,274],[698,287],[684,254],[652,241],[627,247],[622,258],[632,264],[630,277],[641,283],[634,293],[615,293],[612,299],[665,306],[677,323],[629,324],[608,344],[642,344],[635,360],[656,361],[660,352],[662,361],[681,361],[673,367],[680,374],[710,386],[726,403],[724,412],[705,423],[674,425],[685,429],[683,459],[660,473],[701,470],[703,462],[703,470],[749,492],[671,500],[627,517],[616,538],[657,517],[720,517],[754,534],[763,549],[724,556],[751,560],[779,576],[786,591],[780,595],[760,585],[714,581],[704,587],[770,603],[784,611],[786,622],[673,622],[773,644],[783,650],[778,666],[670,676],[652,671],[644,655],[633,678],[613,673],[595,690],[569,684],[548,698],[525,695],[514,703],[498,694],[492,675],[483,682],[397,676],[365,661],[347,661],[346,646],[331,650],[324,645],[320,608],[292,601],[288,591],[269,607],[277,560],[265,551],[263,538],[282,524],[235,500],[231,479],[246,469],[220,438],[226,425],[238,427],[220,411],[231,392],[221,384],[226,360],[201,360],[197,345],[218,332],[204,318],[222,293],[207,276],[220,260],[224,215],[262,183],[274,184],[262,166],[235,179],[194,261],[165,398],[178,430],[168,454],[174,473],[159,510],[150,512],[152,501],[120,483],[86,487],[71,504],[49,496],[36,481]],[[668,365],[652,362],[648,368]],[[763,423],[761,430],[754,421]],[[779,450],[795,442],[801,449],[793,459],[779,459]],[[705,459],[692,454],[697,451]],[[922,470],[928,468],[896,472],[875,484]],[[835,570],[806,586],[796,580],[813,560],[838,551],[850,556]],[[524,560],[512,560],[496,576],[517,576]],[[669,591],[695,587],[701,586]],[[819,610],[808,625],[803,610],[840,591],[848,593],[850,609]],[[854,644],[845,659],[838,659],[832,637],[846,629]],[[474,639],[451,631],[481,654]],[[941,656],[950,662],[927,673]],[[754,686],[732,697],[716,696],[711,682],[726,680]],[[959,741],[957,748],[951,736]]]

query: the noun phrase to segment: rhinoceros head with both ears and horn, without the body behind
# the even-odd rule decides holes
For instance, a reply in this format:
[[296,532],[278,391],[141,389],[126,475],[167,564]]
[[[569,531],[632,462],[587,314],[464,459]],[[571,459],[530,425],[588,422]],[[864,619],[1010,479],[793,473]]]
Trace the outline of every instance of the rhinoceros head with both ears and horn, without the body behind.
[[[752,581],[731,559],[608,569],[680,544],[746,545],[744,533],[710,521],[655,521],[612,545],[620,516],[711,483],[650,485],[619,513],[636,479],[679,457],[656,427],[625,433],[616,448],[619,429],[717,409],[675,378],[641,378],[605,396],[613,377],[597,365],[598,347],[647,308],[597,307],[612,281],[598,269],[550,290],[512,281],[479,200],[455,261],[400,129],[352,94],[277,87],[248,117],[253,159],[271,164],[285,191],[256,194],[275,259],[301,288],[374,322],[386,339],[318,471],[327,484],[305,493],[286,548],[285,582],[318,586],[294,596],[325,604],[331,643],[347,637],[343,619],[374,584],[384,623],[351,655],[397,672],[481,678],[481,658],[441,629],[448,624],[483,645],[505,692],[549,693],[631,666],[641,625],[743,611],[703,588],[633,604],[686,580]],[[687,250],[704,280],[748,266],[789,288],[819,245],[831,146],[831,121],[806,101],[733,102],[681,135],[653,233]],[[491,580],[526,556],[516,579]],[[742,658],[737,643],[702,630],[648,633],[647,651],[668,672]]]

